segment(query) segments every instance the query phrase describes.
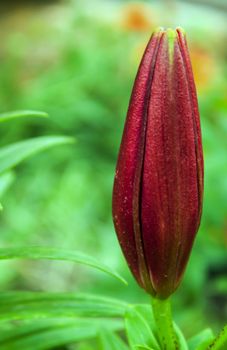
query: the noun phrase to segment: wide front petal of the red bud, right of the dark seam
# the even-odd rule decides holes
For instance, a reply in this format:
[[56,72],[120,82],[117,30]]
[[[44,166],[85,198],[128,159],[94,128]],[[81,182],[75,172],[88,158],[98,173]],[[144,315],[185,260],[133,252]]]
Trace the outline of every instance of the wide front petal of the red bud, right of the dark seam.
[[160,297],[177,287],[200,216],[198,130],[184,61],[177,34],[167,31],[151,87],[141,195],[145,258]]

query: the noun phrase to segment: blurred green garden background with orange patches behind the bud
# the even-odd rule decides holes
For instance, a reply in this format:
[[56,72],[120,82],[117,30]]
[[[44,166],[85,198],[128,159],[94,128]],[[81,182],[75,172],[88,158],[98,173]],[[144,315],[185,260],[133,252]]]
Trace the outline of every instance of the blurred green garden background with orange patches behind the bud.
[[111,218],[117,152],[138,63],[153,29],[187,32],[205,153],[202,225],[174,316],[187,336],[227,319],[227,3],[188,1],[0,2],[0,112],[43,110],[49,120],[1,125],[1,145],[26,137],[76,138],[36,155],[0,189],[1,246],[81,250],[117,269],[126,287],[83,266],[0,263],[1,290],[81,291],[130,302],[133,281]]

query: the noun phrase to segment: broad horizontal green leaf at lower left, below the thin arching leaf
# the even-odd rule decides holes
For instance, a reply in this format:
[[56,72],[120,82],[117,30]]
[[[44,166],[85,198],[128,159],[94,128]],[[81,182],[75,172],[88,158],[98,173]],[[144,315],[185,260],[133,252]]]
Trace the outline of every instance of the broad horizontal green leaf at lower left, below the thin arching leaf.
[[0,321],[37,318],[118,317],[127,304],[106,297],[76,293],[0,293]]

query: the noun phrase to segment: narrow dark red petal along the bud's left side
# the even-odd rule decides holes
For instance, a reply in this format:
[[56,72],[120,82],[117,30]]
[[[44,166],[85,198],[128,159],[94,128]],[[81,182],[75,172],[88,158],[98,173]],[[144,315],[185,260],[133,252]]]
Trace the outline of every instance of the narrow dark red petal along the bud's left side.
[[[144,262],[138,251],[140,233],[135,228],[135,207],[138,205],[141,161],[146,129],[146,113],[150,95],[157,48],[162,31],[154,33],[141,61],[129,103],[126,124],[118,156],[113,189],[113,219],[121,248],[128,265],[140,285],[143,285],[140,263]],[[138,183],[139,182],[139,183]],[[135,232],[135,229],[137,232]]]

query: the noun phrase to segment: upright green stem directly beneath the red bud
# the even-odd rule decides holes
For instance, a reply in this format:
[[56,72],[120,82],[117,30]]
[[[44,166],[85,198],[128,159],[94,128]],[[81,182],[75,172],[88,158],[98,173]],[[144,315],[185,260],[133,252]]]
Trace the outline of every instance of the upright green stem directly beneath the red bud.
[[179,349],[177,336],[173,328],[170,300],[152,298],[152,307],[162,350]]

